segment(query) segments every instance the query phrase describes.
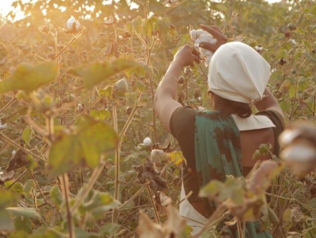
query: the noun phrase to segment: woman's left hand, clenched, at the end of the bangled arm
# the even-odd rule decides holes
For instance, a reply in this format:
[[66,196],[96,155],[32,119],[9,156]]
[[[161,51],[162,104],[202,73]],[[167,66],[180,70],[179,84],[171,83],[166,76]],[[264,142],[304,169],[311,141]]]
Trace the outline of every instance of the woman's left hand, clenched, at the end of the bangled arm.
[[181,67],[188,65],[193,67],[194,61],[200,63],[199,53],[194,47],[186,44],[178,50],[173,62],[179,64]]

